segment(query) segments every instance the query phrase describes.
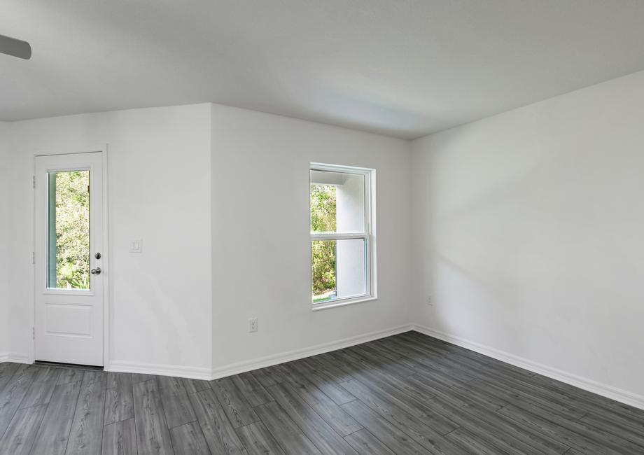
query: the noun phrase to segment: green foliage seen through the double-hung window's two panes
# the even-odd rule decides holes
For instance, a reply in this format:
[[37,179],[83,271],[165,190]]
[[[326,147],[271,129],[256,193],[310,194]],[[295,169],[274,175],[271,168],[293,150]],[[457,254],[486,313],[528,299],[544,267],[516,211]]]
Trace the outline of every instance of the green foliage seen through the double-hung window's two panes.
[[[335,209],[335,186],[311,185],[311,232],[335,232]],[[311,241],[314,296],[335,290],[335,243],[328,240]]]

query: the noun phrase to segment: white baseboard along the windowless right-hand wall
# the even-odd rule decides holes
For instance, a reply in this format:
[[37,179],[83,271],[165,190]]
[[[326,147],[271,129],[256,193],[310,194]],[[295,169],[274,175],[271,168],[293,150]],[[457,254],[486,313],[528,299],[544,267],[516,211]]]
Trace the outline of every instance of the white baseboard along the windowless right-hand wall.
[[424,327],[423,325],[414,325],[413,330],[423,333],[424,335],[429,335],[430,337],[442,339],[445,342],[456,344],[457,346],[464,347],[465,349],[470,349],[471,351],[482,353],[484,356],[489,356],[496,358],[497,360],[501,360],[502,362],[510,363],[510,365],[524,368],[524,370],[542,374],[543,376],[547,376],[551,379],[556,379],[557,381],[565,382],[566,384],[570,384],[571,386],[582,388],[585,391],[596,393],[597,395],[602,395],[606,398],[610,398],[612,400],[616,400],[626,405],[637,407],[639,409],[644,409],[644,396],[642,395],[637,395],[636,393],[625,391],[621,388],[602,384],[601,382],[594,381],[592,379],[577,376],[577,374],[559,370],[554,367],[549,367],[548,365],[534,362],[533,360],[529,360],[527,358],[515,356],[512,353],[500,351],[499,349],[472,342],[468,339],[457,337],[455,335],[449,335],[448,333],[441,332],[440,330],[435,330],[433,328]]

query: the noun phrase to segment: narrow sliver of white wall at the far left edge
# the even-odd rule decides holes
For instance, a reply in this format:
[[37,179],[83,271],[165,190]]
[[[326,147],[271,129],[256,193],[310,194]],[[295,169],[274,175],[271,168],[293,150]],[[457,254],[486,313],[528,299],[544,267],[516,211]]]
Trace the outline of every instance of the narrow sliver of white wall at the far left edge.
[[[9,176],[9,127],[0,122],[0,239],[7,239],[9,219],[8,176]],[[8,242],[0,241],[0,358],[8,356]]]

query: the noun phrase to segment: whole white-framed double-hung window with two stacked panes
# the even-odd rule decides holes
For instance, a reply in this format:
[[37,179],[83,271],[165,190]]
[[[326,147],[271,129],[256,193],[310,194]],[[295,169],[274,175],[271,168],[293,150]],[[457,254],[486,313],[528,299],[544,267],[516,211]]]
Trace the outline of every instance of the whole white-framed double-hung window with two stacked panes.
[[374,170],[311,164],[314,309],[375,297]]

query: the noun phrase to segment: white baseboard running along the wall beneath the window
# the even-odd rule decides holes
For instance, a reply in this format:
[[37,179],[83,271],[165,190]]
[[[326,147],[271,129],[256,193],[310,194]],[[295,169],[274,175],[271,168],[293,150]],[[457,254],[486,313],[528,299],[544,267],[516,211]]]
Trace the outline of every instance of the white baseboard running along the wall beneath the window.
[[391,335],[396,335],[402,332],[408,332],[409,330],[412,330],[412,325],[399,325],[395,328],[378,330],[377,332],[369,332],[363,335],[357,335],[355,337],[340,339],[335,342],[316,344],[315,346],[309,346],[304,349],[295,349],[293,351],[286,351],[279,354],[274,354],[272,356],[255,358],[253,360],[246,360],[244,362],[231,363],[230,365],[214,368],[211,373],[211,378],[218,379],[220,377],[227,377],[231,376],[232,374],[239,374],[246,371],[257,370],[258,368],[278,365],[279,363],[290,362],[292,360],[297,360],[304,357],[316,356],[321,353],[343,349],[360,343],[370,342],[374,339],[389,337]]

